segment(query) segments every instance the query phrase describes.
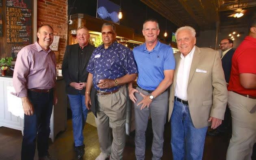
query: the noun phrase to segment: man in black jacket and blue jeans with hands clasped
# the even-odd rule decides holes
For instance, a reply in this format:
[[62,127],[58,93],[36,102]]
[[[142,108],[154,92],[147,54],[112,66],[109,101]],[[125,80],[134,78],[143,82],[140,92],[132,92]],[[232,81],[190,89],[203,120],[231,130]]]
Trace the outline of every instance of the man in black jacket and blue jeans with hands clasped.
[[84,26],[77,28],[76,38],[78,43],[66,48],[62,75],[66,82],[66,92],[72,110],[72,126],[77,158],[85,154],[83,129],[87,118],[85,106],[85,87],[88,77],[87,62],[95,49],[89,44],[90,34]]

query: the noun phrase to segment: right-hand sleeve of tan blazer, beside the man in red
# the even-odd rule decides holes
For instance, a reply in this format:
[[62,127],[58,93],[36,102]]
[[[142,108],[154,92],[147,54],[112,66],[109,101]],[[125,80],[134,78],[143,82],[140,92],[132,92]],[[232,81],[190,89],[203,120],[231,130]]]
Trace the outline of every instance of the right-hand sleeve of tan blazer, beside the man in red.
[[215,52],[215,58],[212,68],[212,85],[213,85],[213,107],[210,116],[218,119],[224,119],[226,105],[228,101],[228,90],[221,59],[218,52]]

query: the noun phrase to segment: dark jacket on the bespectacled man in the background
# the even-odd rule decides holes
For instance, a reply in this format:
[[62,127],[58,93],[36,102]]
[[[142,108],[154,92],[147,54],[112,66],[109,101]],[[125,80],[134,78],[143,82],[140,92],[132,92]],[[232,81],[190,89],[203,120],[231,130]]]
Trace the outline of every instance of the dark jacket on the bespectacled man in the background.
[[232,57],[234,55],[234,51],[236,49],[232,48],[230,49],[221,59],[222,62],[222,68],[224,70],[225,80],[228,83],[231,73],[231,66],[232,66]]

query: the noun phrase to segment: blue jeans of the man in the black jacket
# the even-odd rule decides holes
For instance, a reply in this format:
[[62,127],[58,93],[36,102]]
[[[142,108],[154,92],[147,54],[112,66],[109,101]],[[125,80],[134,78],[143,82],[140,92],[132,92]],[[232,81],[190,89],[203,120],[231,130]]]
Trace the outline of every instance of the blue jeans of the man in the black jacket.
[[82,132],[85,127],[88,113],[85,106],[85,95],[68,94],[67,96],[69,98],[69,104],[72,111],[72,126],[75,146],[81,146],[84,144],[84,136]]

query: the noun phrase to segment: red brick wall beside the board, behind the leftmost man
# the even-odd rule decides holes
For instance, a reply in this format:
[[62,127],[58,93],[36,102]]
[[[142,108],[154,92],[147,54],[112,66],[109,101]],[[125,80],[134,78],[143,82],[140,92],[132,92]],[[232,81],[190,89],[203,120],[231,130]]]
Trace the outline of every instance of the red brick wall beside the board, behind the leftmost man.
[[59,50],[54,51],[57,57],[57,68],[61,68],[67,45],[67,0],[38,0],[37,26],[49,24],[54,35],[60,36]]

